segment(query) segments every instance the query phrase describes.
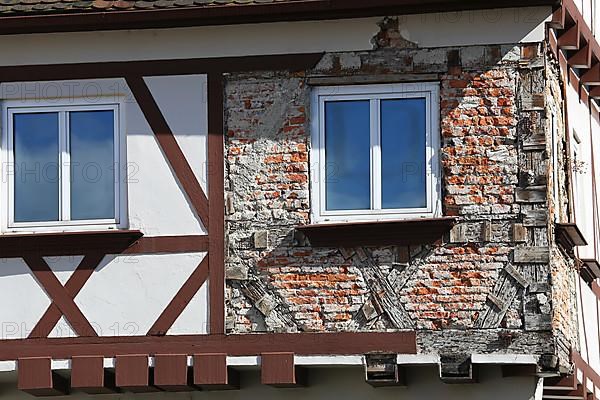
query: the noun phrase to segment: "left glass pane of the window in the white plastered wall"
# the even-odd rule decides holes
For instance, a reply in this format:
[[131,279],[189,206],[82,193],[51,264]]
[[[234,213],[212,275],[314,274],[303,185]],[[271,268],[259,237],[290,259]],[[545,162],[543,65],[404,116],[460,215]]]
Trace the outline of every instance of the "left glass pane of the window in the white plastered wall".
[[58,221],[58,113],[14,114],[15,222]]

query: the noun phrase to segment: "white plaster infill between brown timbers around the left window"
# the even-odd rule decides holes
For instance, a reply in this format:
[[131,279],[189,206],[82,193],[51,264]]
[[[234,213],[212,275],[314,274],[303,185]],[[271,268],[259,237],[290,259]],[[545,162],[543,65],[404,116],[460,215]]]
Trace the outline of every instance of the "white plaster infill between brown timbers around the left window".
[[[185,154],[202,188],[207,191],[206,76],[146,77],[145,81]],[[129,229],[145,237],[203,235],[206,229],[160,149],[150,126],[123,79],[10,83],[0,86],[2,99],[35,99],[48,95],[61,103],[84,100],[86,104],[120,102],[122,135],[126,148],[124,180],[125,217]],[[125,173],[126,171],[126,173]],[[6,208],[3,198],[0,203]],[[145,335],[171,301],[204,254],[107,256],[75,298],[76,304],[100,336]],[[61,284],[65,284],[81,256],[47,257]],[[27,337],[50,299],[19,258],[3,259],[0,271],[0,339]],[[27,302],[23,302],[26,296]],[[208,282],[168,334],[207,333]],[[75,333],[63,317],[50,337]]]

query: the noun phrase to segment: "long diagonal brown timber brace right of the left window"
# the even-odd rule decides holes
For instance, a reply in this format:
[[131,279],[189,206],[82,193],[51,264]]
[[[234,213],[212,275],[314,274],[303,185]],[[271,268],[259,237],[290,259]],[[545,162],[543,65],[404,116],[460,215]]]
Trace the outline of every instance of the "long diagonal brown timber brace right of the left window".
[[194,171],[192,171],[187,158],[183,154],[183,151],[181,151],[171,128],[169,128],[169,124],[165,120],[158,104],[156,104],[148,85],[146,85],[142,76],[127,75],[125,80],[142,113],[146,117],[146,121],[148,121],[150,128],[154,132],[156,141],[163,150],[175,177],[187,195],[188,201],[194,207],[202,224],[208,228],[208,199]]

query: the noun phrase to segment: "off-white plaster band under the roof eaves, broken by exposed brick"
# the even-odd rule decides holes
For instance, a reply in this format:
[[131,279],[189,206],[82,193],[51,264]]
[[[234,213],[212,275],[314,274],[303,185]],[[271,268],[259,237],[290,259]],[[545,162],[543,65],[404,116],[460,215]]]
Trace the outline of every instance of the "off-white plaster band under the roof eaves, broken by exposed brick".
[[[544,40],[550,7],[400,16],[420,47]],[[370,50],[381,17],[176,29],[0,36],[0,65]]]

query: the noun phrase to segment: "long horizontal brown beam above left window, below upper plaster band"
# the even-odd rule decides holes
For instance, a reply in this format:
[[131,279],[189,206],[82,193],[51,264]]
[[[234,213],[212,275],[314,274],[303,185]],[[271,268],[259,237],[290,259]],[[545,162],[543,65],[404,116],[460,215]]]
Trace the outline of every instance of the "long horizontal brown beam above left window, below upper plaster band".
[[323,53],[0,66],[2,82],[190,75],[222,72],[290,70],[314,67]]

